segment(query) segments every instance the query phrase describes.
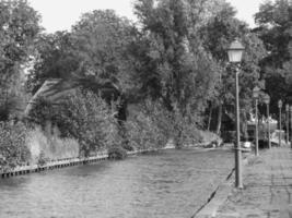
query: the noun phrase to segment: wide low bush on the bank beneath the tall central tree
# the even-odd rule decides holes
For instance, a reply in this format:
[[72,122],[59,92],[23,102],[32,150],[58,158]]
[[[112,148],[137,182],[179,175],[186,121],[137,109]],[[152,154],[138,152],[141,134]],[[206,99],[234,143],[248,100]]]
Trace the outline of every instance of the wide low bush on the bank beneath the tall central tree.
[[191,114],[184,117],[177,110],[171,112],[162,104],[150,100],[127,121],[126,129],[130,145],[140,149],[164,147],[170,138],[177,148],[201,141]]

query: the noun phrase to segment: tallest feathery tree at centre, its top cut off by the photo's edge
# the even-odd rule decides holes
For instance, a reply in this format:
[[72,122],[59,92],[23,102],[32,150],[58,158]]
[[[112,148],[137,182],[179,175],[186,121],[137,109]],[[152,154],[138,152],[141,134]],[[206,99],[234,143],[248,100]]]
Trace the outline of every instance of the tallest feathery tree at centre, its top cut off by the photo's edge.
[[[176,147],[188,129],[201,126],[201,112],[213,95],[217,64],[198,37],[210,1],[138,0],[135,4],[141,34],[137,77],[143,96],[162,99],[174,123]],[[141,52],[142,51],[142,52]]]

